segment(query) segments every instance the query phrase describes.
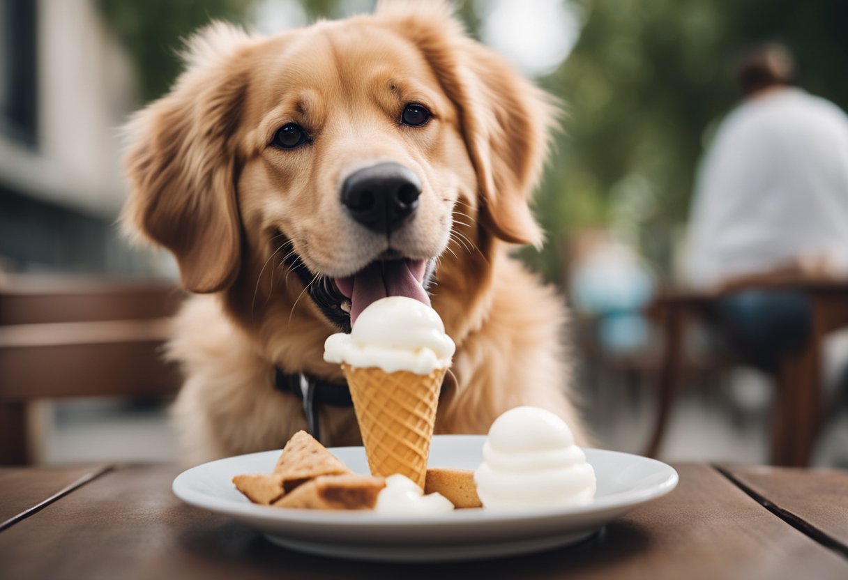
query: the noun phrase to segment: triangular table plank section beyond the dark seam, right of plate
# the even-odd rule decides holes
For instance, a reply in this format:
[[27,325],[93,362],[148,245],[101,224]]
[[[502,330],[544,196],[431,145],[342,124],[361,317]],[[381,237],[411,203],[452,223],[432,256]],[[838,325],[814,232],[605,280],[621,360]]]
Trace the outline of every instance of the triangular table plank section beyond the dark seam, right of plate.
[[768,466],[722,470],[780,516],[809,527],[813,535],[823,534],[848,555],[848,471]]

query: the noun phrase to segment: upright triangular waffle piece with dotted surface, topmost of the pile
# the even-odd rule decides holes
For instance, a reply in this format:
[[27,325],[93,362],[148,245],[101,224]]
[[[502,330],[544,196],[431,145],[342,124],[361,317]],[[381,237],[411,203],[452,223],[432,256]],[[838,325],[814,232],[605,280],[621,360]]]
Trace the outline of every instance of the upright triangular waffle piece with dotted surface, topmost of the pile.
[[301,483],[326,475],[342,475],[351,471],[305,431],[296,432],[282,449],[274,475],[282,477],[286,493]]

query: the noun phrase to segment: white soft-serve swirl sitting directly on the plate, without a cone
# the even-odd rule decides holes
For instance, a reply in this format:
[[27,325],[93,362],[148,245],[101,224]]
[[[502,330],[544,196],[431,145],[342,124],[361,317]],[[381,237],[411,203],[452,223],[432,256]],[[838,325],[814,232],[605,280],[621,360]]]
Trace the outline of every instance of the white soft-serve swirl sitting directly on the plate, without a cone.
[[483,460],[474,481],[484,508],[566,507],[594,497],[594,469],[571,429],[550,411],[516,407],[500,415]]

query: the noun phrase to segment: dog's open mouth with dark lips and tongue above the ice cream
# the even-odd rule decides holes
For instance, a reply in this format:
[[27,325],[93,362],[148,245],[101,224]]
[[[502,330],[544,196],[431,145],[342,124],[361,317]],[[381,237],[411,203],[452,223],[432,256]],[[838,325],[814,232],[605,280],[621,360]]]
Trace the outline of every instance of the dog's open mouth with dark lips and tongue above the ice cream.
[[306,292],[327,320],[343,332],[350,332],[362,310],[380,298],[405,296],[430,305],[427,287],[432,278],[432,259],[377,259],[343,278],[315,276],[297,254],[289,254],[285,262],[306,285]]

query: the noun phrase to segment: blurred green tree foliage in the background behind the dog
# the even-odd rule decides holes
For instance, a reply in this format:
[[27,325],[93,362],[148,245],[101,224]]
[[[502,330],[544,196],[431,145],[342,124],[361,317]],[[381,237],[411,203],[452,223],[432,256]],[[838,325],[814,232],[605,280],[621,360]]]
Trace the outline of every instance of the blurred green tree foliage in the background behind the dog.
[[[549,243],[541,253],[522,252],[549,280],[561,279],[570,232],[586,227],[610,228],[660,273],[671,270],[698,159],[708,129],[736,102],[731,64],[746,45],[785,42],[796,53],[802,86],[848,105],[843,0],[566,2],[583,20],[581,36],[566,62],[538,79],[566,103],[564,131],[537,197]],[[251,6],[250,0],[98,3],[137,64],[145,100],[176,77],[181,37],[211,18],[243,22]],[[344,15],[339,0],[302,4],[312,19]],[[474,36],[482,6],[457,2]]]

